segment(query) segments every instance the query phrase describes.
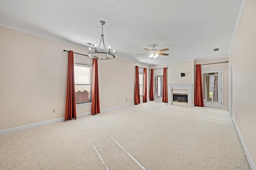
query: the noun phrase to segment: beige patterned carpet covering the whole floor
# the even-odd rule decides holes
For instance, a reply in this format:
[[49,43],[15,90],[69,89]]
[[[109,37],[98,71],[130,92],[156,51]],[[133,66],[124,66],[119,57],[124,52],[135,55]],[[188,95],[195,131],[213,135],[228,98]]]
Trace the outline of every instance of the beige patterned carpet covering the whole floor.
[[0,169],[250,169],[227,110],[147,102],[0,136]]

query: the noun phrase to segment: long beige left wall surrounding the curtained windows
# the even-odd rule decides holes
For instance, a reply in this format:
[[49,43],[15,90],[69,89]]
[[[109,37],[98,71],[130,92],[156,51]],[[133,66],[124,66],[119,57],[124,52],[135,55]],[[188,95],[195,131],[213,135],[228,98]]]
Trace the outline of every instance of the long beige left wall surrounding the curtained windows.
[[[68,53],[63,49],[88,50],[4,27],[0,33],[0,130],[64,117]],[[74,62],[92,59],[74,54]],[[118,58],[98,62],[100,109],[134,103],[136,65],[146,67]],[[77,115],[90,111],[90,104],[77,107]]]

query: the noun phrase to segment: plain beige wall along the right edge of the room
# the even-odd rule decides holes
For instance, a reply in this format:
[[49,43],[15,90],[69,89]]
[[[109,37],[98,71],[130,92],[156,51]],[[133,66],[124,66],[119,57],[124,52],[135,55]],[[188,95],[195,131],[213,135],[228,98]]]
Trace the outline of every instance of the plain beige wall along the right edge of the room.
[[[256,168],[256,1],[247,0],[231,48],[233,118]],[[236,116],[237,114],[237,116]],[[240,121],[239,121],[240,118]]]

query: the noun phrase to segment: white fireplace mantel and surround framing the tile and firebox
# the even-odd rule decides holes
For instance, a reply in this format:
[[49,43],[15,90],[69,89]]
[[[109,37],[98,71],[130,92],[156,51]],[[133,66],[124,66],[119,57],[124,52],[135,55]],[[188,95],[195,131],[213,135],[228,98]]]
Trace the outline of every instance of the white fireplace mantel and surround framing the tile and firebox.
[[178,89],[178,90],[182,90],[182,89],[186,89],[188,90],[188,106],[192,107],[192,84],[168,84],[169,87],[169,100],[168,100],[168,104],[172,104],[172,93],[174,89]]

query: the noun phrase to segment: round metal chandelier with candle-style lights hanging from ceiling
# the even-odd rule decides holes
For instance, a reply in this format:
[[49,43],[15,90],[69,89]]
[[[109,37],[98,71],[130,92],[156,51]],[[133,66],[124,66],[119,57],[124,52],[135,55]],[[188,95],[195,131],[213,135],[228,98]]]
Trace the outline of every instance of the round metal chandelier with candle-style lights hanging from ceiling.
[[100,24],[102,25],[102,34],[101,34],[101,39],[100,39],[100,43],[102,41],[103,44],[103,50],[104,51],[98,51],[100,44],[97,48],[96,44],[92,44],[92,43],[87,43],[89,45],[94,45],[95,50],[91,52],[91,47],[89,48],[89,57],[92,57],[94,59],[101,59],[101,60],[110,60],[110,59],[114,59],[115,56],[115,50],[113,50],[113,54],[110,52],[110,46],[108,46],[108,50],[105,47],[105,42],[104,42],[104,35],[103,35],[103,25],[105,24],[105,21],[100,21]]

